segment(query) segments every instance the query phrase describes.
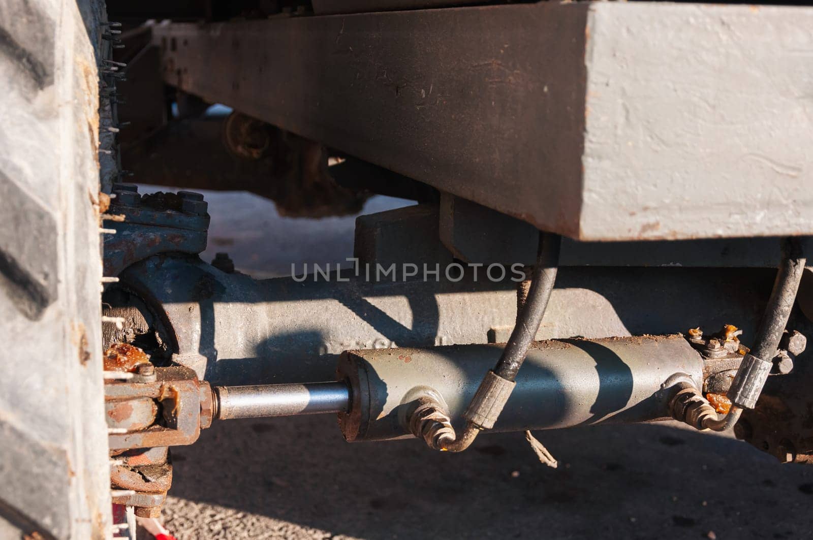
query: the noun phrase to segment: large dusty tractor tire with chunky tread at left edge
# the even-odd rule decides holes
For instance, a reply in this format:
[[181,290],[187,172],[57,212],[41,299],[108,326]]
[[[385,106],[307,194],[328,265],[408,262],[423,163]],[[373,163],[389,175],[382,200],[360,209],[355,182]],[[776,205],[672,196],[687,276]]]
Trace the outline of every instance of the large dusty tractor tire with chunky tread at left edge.
[[111,536],[98,154],[105,20],[103,2],[0,2],[0,538]]

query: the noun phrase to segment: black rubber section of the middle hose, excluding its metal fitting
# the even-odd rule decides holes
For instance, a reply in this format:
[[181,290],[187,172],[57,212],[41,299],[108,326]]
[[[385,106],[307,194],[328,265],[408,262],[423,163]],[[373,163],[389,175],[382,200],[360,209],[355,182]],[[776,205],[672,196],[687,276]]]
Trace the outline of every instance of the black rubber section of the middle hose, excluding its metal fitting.
[[537,336],[542,316],[545,315],[550,293],[554,290],[556,271],[559,268],[559,249],[562,237],[558,234],[539,233],[537,265],[533,268],[531,289],[517,316],[514,331],[508,338],[506,348],[494,367],[493,372],[506,381],[514,381],[520,366],[525,361],[528,346]]

